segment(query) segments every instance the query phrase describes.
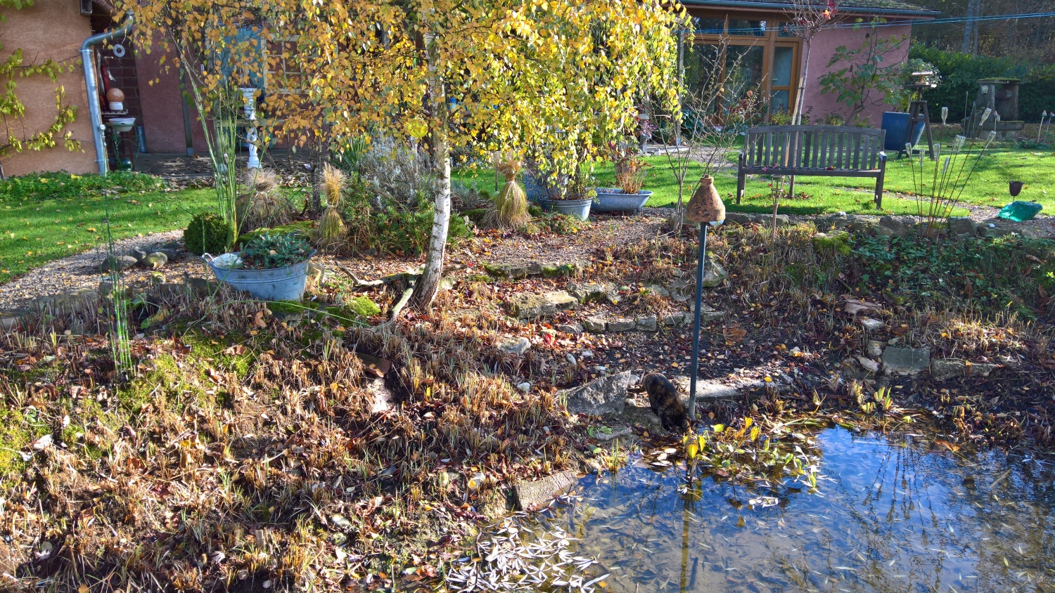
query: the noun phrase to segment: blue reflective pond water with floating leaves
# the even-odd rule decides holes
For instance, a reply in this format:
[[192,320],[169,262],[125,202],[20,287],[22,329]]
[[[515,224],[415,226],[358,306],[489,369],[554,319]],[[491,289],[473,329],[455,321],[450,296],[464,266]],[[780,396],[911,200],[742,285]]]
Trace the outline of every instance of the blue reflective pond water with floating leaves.
[[922,435],[817,433],[820,493],[705,479],[641,458],[543,516],[611,573],[603,590],[1055,591],[1052,464]]

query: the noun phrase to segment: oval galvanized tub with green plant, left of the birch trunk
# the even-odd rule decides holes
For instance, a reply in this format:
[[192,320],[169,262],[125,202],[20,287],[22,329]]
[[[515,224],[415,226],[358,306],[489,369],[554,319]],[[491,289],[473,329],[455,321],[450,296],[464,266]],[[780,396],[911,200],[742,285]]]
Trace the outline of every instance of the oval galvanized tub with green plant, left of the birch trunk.
[[253,237],[238,253],[202,257],[222,282],[261,300],[301,300],[314,250],[300,233]]

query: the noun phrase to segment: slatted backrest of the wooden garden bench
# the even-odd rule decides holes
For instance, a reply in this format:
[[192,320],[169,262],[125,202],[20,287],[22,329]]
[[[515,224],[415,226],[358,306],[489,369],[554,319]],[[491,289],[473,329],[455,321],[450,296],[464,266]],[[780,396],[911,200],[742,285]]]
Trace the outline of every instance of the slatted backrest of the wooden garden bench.
[[763,125],[747,131],[745,164],[751,167],[879,167],[886,131],[848,125]]

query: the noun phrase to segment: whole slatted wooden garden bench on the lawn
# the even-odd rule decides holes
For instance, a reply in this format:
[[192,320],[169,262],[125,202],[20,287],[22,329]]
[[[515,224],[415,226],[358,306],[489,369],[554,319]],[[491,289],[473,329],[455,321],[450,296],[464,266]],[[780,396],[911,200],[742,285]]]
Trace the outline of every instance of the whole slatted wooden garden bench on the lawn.
[[736,203],[747,175],[875,177],[876,207],[883,205],[886,131],[847,125],[763,125],[747,131],[736,173]]

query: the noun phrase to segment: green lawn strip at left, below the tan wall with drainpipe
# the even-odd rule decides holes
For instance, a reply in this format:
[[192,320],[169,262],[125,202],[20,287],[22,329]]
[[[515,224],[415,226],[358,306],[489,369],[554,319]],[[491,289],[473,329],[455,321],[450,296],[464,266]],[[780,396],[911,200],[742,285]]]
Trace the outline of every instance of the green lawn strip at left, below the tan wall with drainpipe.
[[[143,191],[110,198],[115,239],[183,229],[191,214],[215,209],[212,190]],[[76,197],[0,196],[0,283],[53,259],[107,241],[106,202],[98,192]]]

